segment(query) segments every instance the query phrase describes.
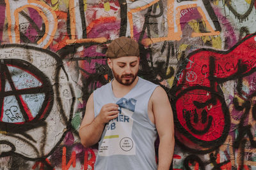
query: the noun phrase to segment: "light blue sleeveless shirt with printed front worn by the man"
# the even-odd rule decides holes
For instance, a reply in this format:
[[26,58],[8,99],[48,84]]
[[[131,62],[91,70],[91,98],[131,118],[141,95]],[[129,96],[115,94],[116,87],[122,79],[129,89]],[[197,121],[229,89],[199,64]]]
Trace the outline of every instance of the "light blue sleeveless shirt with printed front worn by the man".
[[118,117],[106,124],[99,141],[95,170],[156,170],[156,126],[148,118],[148,101],[158,85],[139,77],[124,97],[113,94],[111,82],[93,92],[95,117],[102,106],[118,104]]

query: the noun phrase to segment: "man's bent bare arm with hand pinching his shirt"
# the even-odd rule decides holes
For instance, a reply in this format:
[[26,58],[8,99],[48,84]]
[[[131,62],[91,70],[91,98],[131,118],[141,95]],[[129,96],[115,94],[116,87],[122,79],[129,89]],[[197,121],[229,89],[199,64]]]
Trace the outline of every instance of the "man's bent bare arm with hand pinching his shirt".
[[89,97],[83,121],[79,128],[79,136],[84,147],[95,145],[100,139],[105,124],[118,116],[117,104],[109,103],[102,106],[99,115],[94,117],[93,94]]

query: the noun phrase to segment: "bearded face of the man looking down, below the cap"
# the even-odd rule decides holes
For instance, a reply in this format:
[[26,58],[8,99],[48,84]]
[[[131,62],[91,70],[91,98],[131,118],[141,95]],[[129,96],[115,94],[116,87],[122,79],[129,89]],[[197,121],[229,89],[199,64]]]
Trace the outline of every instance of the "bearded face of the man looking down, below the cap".
[[136,79],[140,64],[140,57],[125,56],[108,59],[108,66],[113,71],[116,81],[122,85],[131,85]]

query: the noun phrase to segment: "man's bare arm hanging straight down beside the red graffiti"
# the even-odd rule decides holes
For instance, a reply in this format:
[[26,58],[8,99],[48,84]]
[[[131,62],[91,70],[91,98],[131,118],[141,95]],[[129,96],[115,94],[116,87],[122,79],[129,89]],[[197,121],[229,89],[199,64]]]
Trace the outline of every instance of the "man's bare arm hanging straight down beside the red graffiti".
[[169,170],[172,164],[175,139],[172,107],[163,88],[157,87],[154,91],[152,104],[159,135],[158,170]]

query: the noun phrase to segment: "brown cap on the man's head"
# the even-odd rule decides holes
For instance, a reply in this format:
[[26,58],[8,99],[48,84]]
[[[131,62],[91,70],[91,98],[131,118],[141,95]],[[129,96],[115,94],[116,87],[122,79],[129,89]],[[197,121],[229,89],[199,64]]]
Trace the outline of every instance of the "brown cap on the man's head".
[[118,58],[125,56],[139,56],[140,50],[138,43],[131,38],[120,37],[116,38],[108,46],[106,52],[106,57],[108,58]]

